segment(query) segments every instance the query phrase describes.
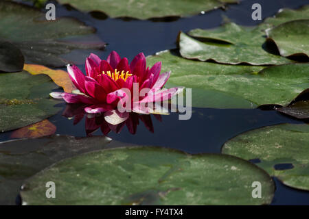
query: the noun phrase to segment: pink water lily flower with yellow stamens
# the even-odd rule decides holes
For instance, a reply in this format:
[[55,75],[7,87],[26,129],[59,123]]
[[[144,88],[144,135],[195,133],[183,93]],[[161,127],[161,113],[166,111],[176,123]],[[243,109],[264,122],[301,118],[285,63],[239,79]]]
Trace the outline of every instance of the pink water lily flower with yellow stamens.
[[133,84],[135,88],[138,85],[139,91],[149,89],[146,95],[137,99],[132,98],[130,102],[133,112],[145,114],[150,111],[143,111],[139,104],[133,103],[165,101],[182,90],[182,88],[161,90],[168,81],[170,72],[160,74],[161,62],[157,62],[151,68],[147,67],[144,53],[136,55],[130,64],[126,57],[121,58],[115,51],[112,51],[106,60],[101,60],[98,55],[91,53],[86,60],[86,75],[73,65],[67,66],[67,72],[78,92],[52,92],[51,96],[64,99],[67,103],[85,103],[87,107],[84,110],[89,114],[115,110],[117,103],[128,97],[124,88],[134,92]]

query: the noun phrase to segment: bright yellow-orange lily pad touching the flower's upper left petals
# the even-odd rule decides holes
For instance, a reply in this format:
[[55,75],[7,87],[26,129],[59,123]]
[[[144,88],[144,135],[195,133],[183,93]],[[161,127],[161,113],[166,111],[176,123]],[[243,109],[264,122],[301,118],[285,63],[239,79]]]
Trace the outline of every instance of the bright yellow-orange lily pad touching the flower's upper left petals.
[[52,70],[38,64],[25,64],[23,69],[27,70],[27,72],[32,75],[48,75],[58,86],[62,87],[63,90],[65,90],[65,92],[67,93],[71,93],[73,90],[76,90],[76,87],[73,85],[69,74],[64,70]]

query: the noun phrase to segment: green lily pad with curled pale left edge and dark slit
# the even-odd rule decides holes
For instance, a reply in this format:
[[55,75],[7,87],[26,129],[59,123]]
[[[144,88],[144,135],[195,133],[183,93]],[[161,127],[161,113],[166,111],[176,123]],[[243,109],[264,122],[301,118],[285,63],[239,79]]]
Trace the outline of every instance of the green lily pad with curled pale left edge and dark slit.
[[226,23],[216,29],[193,29],[191,36],[184,33],[179,36],[179,51],[187,59],[200,61],[214,60],[223,64],[270,65],[287,64],[292,61],[268,53],[263,48],[264,31],[260,27],[241,27],[235,23]]

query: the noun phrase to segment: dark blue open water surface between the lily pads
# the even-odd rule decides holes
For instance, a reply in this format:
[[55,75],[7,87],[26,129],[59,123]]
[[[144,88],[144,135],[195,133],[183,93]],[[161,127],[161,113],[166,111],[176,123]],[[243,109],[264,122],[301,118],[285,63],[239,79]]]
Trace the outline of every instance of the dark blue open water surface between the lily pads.
[[[262,5],[262,18],[273,16],[280,8],[299,8],[309,4],[307,0],[245,0],[239,5],[228,5],[224,10],[213,10],[189,18],[167,18],[165,21],[138,21],[130,19],[106,18],[102,13],[83,14],[69,6],[57,5],[56,16],[72,16],[92,25],[98,36],[108,43],[105,51],[98,54],[106,58],[115,50],[129,60],[139,52],[152,55],[165,49],[176,47],[178,32],[194,28],[218,27],[222,16],[240,25],[257,25],[261,21],[251,19],[251,5]],[[84,65],[79,66],[84,70]],[[65,107],[65,104],[61,104]],[[238,134],[267,125],[280,123],[301,123],[273,111],[262,110],[220,110],[193,108],[190,120],[179,120],[178,114],[162,116],[162,121],[152,116],[154,133],[148,131],[144,124],[137,127],[132,135],[126,127],[120,132],[108,136],[121,142],[144,145],[159,145],[180,149],[188,153],[220,153],[222,144]],[[61,116],[59,112],[49,120],[57,127],[56,133],[71,136],[86,136],[84,119],[77,125],[72,120]],[[93,135],[102,135],[99,131]],[[0,141],[8,140],[10,132],[1,133]],[[288,188],[275,179],[276,191],[273,205],[309,205],[309,192]]]

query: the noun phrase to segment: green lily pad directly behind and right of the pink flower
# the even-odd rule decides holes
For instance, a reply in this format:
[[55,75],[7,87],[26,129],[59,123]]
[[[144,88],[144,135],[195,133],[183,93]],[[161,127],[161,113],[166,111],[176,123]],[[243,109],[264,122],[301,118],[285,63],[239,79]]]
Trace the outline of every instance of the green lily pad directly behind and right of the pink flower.
[[[186,60],[170,51],[147,57],[171,70],[167,86],[192,88],[192,106],[254,108],[262,104],[288,105],[308,88],[309,64],[261,66],[224,65]],[[261,70],[260,72],[258,72]]]

